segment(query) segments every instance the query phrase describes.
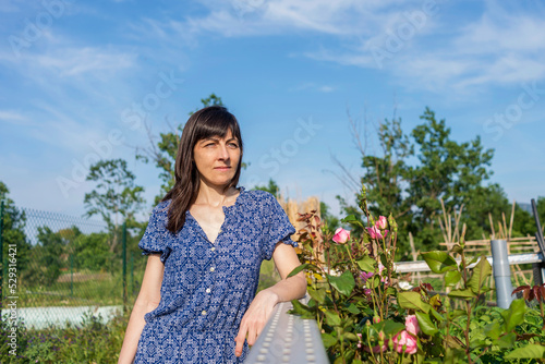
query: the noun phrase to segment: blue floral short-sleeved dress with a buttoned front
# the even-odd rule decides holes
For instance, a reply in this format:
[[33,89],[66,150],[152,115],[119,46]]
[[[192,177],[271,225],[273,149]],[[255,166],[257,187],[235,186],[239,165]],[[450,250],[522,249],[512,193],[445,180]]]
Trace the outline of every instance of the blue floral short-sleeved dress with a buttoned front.
[[144,255],[161,254],[165,274],[159,306],[147,313],[134,364],[242,363],[234,338],[254,299],[263,259],[278,242],[296,246],[295,229],[276,198],[245,191],[232,206],[214,243],[186,213],[175,235],[166,229],[170,201],[157,205],[138,246]]

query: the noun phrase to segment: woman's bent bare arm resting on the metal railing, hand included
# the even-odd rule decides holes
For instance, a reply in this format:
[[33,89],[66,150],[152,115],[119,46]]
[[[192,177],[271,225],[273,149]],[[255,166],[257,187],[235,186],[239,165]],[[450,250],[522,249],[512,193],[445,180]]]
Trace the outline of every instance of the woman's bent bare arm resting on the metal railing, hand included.
[[250,345],[255,343],[277,303],[302,299],[306,293],[306,278],[303,271],[287,278],[293,269],[301,265],[293,246],[278,243],[272,253],[272,259],[282,280],[255,295],[254,301],[242,317],[239,335],[234,339],[237,356],[242,354],[246,335],[247,343]]

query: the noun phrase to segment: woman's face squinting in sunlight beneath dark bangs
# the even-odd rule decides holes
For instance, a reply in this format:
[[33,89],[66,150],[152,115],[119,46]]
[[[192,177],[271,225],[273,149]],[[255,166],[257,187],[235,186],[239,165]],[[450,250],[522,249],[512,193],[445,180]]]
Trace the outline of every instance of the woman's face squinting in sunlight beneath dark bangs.
[[225,137],[213,136],[201,139],[193,148],[193,158],[201,180],[217,186],[225,186],[234,177],[239,167],[241,150],[239,141],[229,130]]

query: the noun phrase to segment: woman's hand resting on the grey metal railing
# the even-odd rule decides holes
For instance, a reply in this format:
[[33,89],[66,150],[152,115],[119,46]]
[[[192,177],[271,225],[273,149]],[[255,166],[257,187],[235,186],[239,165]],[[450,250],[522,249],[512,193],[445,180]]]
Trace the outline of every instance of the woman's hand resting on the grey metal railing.
[[234,338],[237,342],[234,354],[237,356],[242,355],[242,348],[246,336],[249,345],[255,343],[257,337],[265,328],[265,325],[267,325],[272,314],[272,308],[275,308],[277,303],[278,295],[269,289],[259,291],[259,293],[256,294],[254,301],[252,301],[252,304],[247,307],[246,313],[242,317],[239,335]]

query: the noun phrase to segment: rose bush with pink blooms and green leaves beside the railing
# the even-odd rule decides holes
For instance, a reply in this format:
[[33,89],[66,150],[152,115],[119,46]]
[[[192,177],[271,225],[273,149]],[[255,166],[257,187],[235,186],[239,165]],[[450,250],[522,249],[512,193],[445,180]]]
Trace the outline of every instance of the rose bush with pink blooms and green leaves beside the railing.
[[[316,319],[331,363],[531,363],[545,357],[543,310],[542,315],[528,311],[523,300],[509,310],[484,306],[492,267],[485,257],[468,257],[463,239],[451,252],[423,254],[429,269],[444,275],[448,295],[434,293],[426,282],[401,289],[396,220],[372,216],[364,189],[359,201],[365,221],[342,220],[363,231],[359,236],[343,228],[329,231],[316,211],[301,215],[304,264],[290,274],[306,271],[311,299],[306,305],[292,301],[292,313]],[[530,290],[519,291],[530,298]],[[542,299],[541,289],[532,291]]]

